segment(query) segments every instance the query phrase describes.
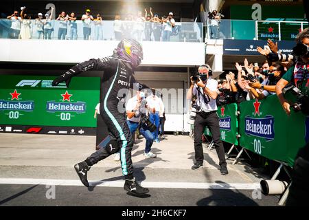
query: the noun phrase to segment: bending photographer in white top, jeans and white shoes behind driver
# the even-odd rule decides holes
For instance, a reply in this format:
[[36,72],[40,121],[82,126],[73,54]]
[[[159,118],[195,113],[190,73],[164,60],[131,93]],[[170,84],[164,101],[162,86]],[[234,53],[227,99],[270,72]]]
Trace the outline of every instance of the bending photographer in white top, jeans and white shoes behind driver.
[[[157,155],[151,152],[151,146],[153,144],[154,135],[150,131],[150,125],[145,123],[144,119],[146,117],[147,111],[147,102],[145,100],[145,94],[142,91],[137,91],[136,96],[130,98],[126,104],[126,114],[128,117],[126,118],[126,122],[128,123],[128,127],[132,135],[134,135],[135,131],[139,129],[139,133],[146,138],[146,146],[144,155],[146,158],[155,158]],[[147,119],[146,119],[147,121]]]

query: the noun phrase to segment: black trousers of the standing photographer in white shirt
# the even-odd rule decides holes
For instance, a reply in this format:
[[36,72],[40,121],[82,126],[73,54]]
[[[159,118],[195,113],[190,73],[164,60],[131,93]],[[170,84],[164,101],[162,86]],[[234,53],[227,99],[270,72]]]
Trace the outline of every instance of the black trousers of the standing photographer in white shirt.
[[214,146],[219,157],[219,165],[226,165],[225,148],[220,140],[219,117],[216,112],[210,113],[209,115],[196,113],[196,119],[194,122],[194,151],[196,163],[203,164],[204,161],[202,135],[205,131],[205,126],[208,126],[209,131],[212,134]]

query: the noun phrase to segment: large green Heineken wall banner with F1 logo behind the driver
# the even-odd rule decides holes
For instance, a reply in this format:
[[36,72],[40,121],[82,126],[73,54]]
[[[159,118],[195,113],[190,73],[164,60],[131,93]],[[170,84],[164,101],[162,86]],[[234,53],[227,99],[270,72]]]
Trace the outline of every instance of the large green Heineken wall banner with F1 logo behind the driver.
[[0,124],[95,127],[99,77],[72,78],[52,87],[54,76],[0,76]]

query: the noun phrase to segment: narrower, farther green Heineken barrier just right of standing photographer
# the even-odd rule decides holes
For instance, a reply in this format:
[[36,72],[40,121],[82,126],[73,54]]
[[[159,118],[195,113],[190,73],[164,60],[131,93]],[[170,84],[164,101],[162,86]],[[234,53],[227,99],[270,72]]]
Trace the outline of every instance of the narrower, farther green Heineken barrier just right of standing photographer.
[[[237,104],[227,104],[218,107],[220,139],[230,144],[238,145],[238,120],[237,120]],[[208,127],[205,128],[205,135],[211,136]]]

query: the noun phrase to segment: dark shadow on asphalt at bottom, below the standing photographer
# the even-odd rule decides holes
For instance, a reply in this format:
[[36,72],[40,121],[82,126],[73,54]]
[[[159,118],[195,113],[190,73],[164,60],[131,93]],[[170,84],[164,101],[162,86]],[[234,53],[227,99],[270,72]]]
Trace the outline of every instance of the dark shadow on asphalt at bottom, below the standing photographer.
[[[227,184],[224,181],[216,181],[216,184]],[[239,190],[211,189],[209,197],[196,202],[197,206],[259,206],[252,198],[247,197]]]

